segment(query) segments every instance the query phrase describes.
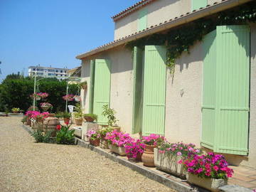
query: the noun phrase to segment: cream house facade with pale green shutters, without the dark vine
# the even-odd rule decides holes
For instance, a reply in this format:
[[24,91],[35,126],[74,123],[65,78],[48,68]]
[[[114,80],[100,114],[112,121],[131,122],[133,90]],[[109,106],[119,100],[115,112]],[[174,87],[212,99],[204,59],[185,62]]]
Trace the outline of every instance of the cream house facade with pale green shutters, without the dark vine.
[[86,112],[117,111],[122,131],[162,134],[256,166],[256,24],[218,25],[166,67],[165,43],[127,43],[190,26],[250,1],[142,0],[113,16],[114,41],[78,55]]

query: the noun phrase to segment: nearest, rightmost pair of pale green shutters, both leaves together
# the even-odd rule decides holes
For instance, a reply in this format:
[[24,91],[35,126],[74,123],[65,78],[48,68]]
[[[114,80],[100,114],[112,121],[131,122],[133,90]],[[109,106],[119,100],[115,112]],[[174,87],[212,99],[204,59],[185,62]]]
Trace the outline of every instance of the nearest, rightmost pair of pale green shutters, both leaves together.
[[201,144],[219,153],[247,155],[250,28],[218,26],[204,38],[203,48]]

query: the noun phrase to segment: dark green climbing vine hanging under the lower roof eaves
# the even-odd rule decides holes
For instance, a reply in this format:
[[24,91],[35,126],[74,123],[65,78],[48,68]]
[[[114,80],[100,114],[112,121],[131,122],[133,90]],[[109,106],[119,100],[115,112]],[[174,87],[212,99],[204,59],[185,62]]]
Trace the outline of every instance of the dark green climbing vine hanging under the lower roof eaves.
[[243,6],[236,7],[228,11],[222,11],[210,18],[201,18],[186,26],[171,29],[166,33],[156,33],[151,36],[140,38],[136,41],[127,43],[128,48],[139,46],[143,48],[147,45],[162,46],[167,48],[166,65],[170,68],[171,74],[174,74],[175,60],[183,52],[189,53],[189,48],[196,41],[201,41],[203,36],[213,31],[216,26],[221,25],[242,25],[256,21],[256,3],[250,2]]

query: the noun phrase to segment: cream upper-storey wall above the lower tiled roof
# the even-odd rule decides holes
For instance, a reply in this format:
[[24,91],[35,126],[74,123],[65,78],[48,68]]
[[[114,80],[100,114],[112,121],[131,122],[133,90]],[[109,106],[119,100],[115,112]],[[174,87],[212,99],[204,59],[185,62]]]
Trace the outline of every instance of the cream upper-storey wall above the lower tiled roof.
[[[212,5],[214,2],[220,1],[208,0],[208,4]],[[169,21],[169,19],[175,18],[176,16],[191,12],[191,0],[158,0],[144,7],[148,10],[147,27],[149,28],[164,21]],[[137,32],[140,10],[142,9],[138,9],[115,21],[114,40]]]

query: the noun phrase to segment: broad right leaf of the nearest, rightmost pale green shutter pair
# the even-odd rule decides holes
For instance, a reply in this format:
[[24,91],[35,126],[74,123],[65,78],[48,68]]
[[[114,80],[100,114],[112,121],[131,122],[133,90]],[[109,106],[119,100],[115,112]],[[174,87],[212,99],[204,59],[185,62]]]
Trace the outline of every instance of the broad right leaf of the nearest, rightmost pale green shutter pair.
[[214,151],[247,155],[250,28],[217,27]]

